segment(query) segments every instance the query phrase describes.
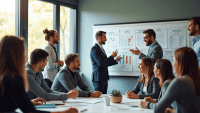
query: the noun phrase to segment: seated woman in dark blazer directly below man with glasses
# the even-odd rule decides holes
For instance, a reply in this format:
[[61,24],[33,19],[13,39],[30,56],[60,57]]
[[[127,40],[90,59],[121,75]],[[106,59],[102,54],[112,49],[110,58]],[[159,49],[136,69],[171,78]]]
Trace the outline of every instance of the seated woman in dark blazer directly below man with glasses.
[[138,65],[142,75],[138,78],[135,88],[126,92],[127,98],[143,99],[151,97],[157,99],[160,93],[159,79],[153,75],[153,63],[150,58],[142,58]]

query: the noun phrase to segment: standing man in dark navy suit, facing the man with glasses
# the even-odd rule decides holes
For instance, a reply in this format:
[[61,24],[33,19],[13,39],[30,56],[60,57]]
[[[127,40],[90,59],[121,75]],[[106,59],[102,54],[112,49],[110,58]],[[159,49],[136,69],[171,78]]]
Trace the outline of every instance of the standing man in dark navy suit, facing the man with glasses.
[[108,88],[108,66],[117,64],[122,57],[117,56],[117,50],[113,51],[112,55],[107,57],[103,44],[107,41],[106,32],[98,31],[95,35],[97,43],[92,47],[90,52],[90,58],[92,61],[92,82],[95,91],[100,91],[102,94],[107,94]]

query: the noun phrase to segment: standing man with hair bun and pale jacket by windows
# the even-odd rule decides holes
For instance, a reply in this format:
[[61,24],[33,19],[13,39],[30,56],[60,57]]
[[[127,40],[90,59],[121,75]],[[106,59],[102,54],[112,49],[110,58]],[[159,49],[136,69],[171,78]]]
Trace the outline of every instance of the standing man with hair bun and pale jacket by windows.
[[44,50],[47,51],[49,56],[47,57],[47,66],[44,68],[44,80],[47,85],[51,88],[56,74],[58,73],[60,66],[63,66],[63,61],[60,61],[58,54],[56,52],[55,44],[58,44],[58,33],[55,30],[43,30],[45,35],[45,40],[48,41]]

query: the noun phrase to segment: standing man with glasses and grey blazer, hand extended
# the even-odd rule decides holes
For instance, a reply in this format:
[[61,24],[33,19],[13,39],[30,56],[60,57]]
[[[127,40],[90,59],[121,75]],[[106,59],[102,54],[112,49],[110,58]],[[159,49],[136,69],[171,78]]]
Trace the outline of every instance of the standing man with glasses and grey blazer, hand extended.
[[141,59],[143,57],[151,58],[153,65],[154,65],[156,60],[162,59],[162,57],[163,57],[162,47],[155,40],[156,33],[154,32],[153,29],[147,29],[147,30],[143,31],[143,34],[144,34],[144,41],[146,42],[146,46],[149,46],[147,55],[140,52],[140,50],[138,50],[137,47],[136,47],[137,50],[130,49],[130,51],[135,55],[139,55],[139,59]]

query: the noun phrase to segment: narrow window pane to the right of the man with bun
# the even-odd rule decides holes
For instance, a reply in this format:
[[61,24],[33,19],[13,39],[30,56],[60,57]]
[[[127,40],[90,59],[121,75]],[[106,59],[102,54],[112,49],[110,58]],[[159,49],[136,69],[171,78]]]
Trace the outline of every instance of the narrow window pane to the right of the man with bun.
[[60,60],[69,53],[75,53],[76,10],[60,6]]

